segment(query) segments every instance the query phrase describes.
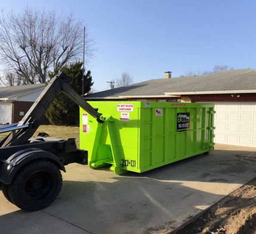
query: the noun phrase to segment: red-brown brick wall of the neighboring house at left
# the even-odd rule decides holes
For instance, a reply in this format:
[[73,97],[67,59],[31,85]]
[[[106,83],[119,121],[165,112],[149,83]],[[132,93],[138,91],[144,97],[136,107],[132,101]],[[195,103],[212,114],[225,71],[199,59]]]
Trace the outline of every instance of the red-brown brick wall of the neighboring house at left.
[[[18,123],[20,120],[22,120],[23,116],[28,112],[29,108],[31,108],[33,104],[34,102],[14,101],[12,103],[12,123]],[[20,115],[20,112],[24,112],[24,115]],[[50,124],[45,115],[43,115],[41,118],[41,124]]]

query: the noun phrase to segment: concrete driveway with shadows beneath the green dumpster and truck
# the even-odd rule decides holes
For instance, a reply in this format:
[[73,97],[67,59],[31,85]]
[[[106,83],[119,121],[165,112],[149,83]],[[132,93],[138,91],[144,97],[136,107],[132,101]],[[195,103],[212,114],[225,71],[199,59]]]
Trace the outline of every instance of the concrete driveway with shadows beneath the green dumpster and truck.
[[6,234],[135,234],[173,230],[256,177],[256,148],[216,145],[142,174],[71,164],[59,198],[23,212],[0,193],[0,232]]

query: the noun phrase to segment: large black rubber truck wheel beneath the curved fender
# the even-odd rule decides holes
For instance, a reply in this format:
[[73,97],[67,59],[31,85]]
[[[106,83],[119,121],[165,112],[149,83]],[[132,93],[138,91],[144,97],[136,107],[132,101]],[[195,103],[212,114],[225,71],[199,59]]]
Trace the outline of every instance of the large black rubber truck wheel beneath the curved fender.
[[47,160],[28,163],[9,185],[13,204],[26,211],[37,211],[49,206],[62,188],[59,168]]

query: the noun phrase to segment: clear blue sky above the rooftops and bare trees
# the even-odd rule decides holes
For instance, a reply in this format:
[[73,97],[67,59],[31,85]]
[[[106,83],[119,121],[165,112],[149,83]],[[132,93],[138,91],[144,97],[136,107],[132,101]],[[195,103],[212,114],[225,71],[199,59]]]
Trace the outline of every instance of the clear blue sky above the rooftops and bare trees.
[[135,83],[172,71],[214,65],[256,68],[256,1],[253,0],[1,0],[5,11],[26,5],[74,12],[89,24],[98,51],[87,68],[94,87],[123,71]]

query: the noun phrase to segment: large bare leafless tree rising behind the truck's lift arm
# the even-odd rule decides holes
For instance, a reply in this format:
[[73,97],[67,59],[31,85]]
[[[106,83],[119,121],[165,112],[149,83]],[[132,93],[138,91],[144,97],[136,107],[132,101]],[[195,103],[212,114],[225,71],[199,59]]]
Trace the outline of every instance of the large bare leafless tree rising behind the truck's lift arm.
[[[87,25],[86,25],[86,28]],[[86,62],[95,41],[85,35]],[[49,71],[82,58],[83,21],[56,11],[25,8],[21,13],[0,15],[0,62],[25,83],[45,83]]]

